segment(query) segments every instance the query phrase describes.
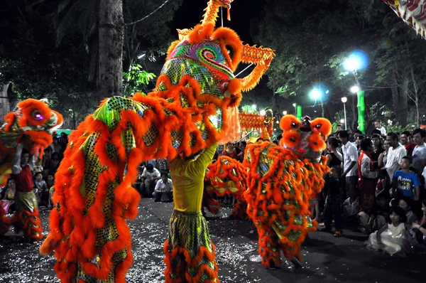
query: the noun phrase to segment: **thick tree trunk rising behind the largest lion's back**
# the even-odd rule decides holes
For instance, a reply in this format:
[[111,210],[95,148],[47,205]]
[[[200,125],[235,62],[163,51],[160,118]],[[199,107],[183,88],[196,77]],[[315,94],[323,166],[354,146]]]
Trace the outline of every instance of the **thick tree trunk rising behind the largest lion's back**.
[[123,92],[123,0],[100,0],[99,74],[97,96],[122,95]]

